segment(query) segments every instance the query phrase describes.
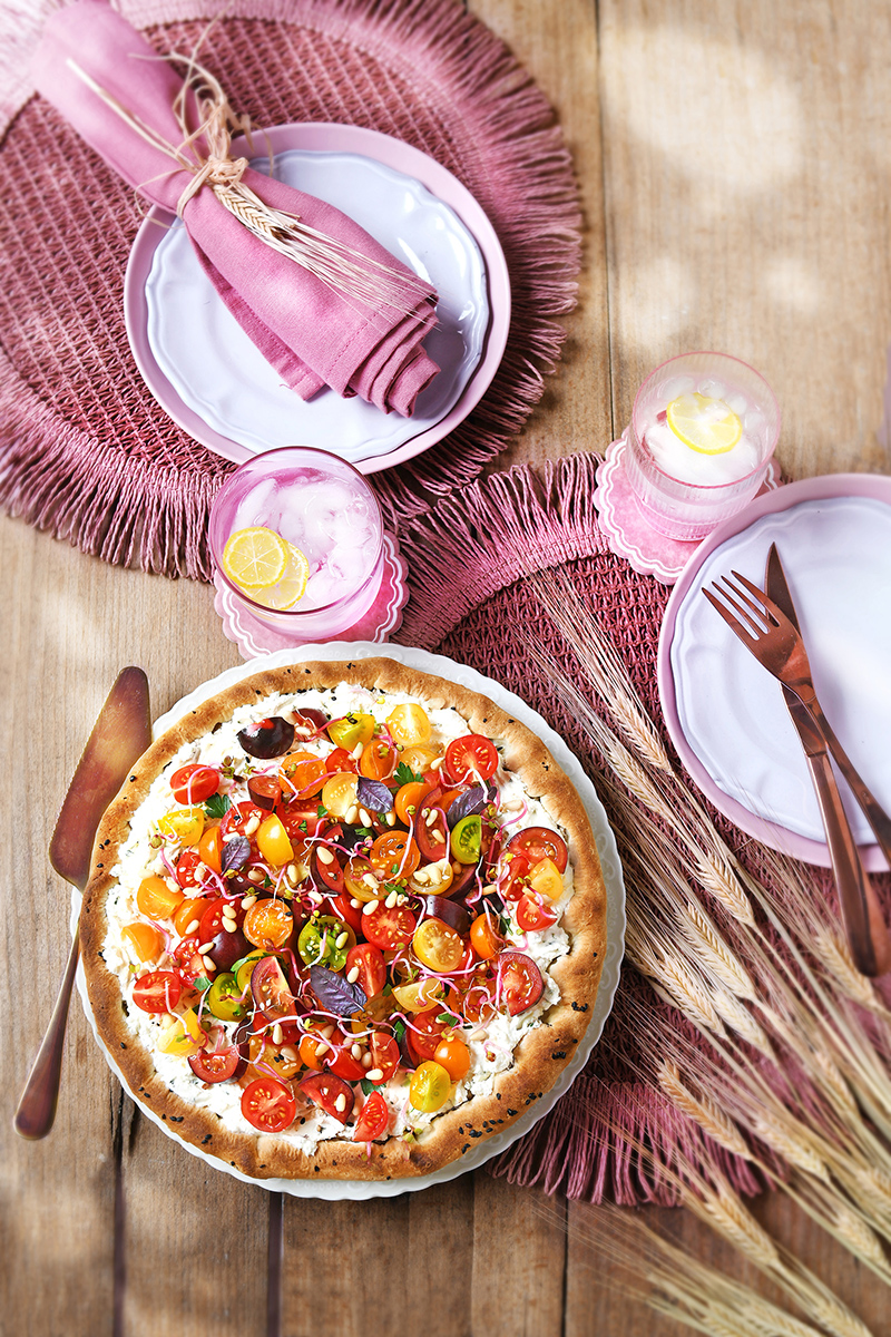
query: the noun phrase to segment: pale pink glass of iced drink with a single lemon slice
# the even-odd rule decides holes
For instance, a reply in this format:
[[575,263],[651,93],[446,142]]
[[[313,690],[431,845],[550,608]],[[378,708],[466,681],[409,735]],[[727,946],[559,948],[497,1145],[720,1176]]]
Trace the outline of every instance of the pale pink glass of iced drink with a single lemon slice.
[[637,392],[624,457],[644,519],[671,539],[704,539],[759,492],[779,435],[776,397],[747,362],[663,362]]

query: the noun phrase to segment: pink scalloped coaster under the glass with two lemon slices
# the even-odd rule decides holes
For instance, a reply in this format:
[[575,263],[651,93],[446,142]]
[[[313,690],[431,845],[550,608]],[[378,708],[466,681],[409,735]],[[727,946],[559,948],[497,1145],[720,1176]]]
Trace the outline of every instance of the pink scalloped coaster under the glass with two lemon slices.
[[[409,587],[406,576],[409,572],[405,558],[399,555],[399,544],[391,533],[383,535],[383,574],[381,588],[366,614],[346,631],[339,631],[338,640],[370,640],[382,644],[399,627],[402,610],[409,602]],[[319,639],[314,636],[283,635],[264,622],[248,612],[238,602],[232,591],[223,583],[219,572],[214,574],[216,594],[214,607],[223,620],[223,635],[235,642],[242,659],[255,659],[258,655],[271,654],[274,650],[290,650],[294,646],[311,644]]]

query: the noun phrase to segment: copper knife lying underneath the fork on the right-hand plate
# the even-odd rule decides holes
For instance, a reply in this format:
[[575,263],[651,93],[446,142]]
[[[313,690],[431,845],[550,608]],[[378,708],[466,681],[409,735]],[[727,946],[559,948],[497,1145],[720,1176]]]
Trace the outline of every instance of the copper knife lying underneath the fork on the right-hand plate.
[[[795,628],[800,631],[795,603],[775,543],[771,544],[767,558],[764,588]],[[842,919],[854,964],[860,975],[886,975],[891,971],[891,939],[842,804],[826,741],[795,693],[783,687],[783,697],[801,741],[820,805],[826,842],[830,849]]]

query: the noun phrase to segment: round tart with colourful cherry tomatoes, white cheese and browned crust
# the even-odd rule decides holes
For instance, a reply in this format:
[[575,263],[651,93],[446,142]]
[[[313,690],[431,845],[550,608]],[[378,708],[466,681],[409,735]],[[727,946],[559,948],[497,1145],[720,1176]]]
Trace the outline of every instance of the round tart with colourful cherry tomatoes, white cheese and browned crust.
[[[461,1173],[593,1043],[586,804],[537,731],[410,658],[236,675],[99,833],[80,927],[103,1046],[166,1131],[269,1186]],[[606,1011],[613,989],[610,968]]]

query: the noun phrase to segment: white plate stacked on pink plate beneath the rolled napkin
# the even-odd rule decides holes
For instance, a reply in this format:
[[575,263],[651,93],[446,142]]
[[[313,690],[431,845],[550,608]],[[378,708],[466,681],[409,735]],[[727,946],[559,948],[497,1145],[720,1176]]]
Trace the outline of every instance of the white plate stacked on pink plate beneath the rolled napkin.
[[[183,225],[152,209],[131,250],[124,316],[142,376],[195,440],[240,463],[282,445],[333,451],[363,473],[427,449],[466,417],[494,376],[510,324],[506,262],[469,191],[426,154],[353,126],[269,131],[275,175],[350,214],[437,289],[439,324],[425,340],[441,368],[413,417],[330,389],[309,402],[226,309]],[[254,140],[254,164],[263,135]],[[238,142],[234,152],[239,150]]]

